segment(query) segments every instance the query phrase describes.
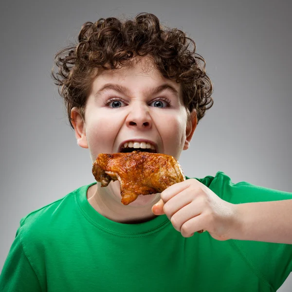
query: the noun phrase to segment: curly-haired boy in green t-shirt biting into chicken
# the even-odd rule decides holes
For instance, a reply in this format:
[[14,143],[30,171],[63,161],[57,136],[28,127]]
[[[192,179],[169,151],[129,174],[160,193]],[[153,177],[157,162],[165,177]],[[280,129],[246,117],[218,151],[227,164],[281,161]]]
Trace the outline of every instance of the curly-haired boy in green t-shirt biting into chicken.
[[[187,39],[152,14],[107,18],[56,55],[53,77],[92,163],[125,144],[176,159],[188,148],[213,100]],[[276,291],[292,271],[291,199],[221,171],[127,206],[118,181],[91,183],[20,220],[0,291]]]

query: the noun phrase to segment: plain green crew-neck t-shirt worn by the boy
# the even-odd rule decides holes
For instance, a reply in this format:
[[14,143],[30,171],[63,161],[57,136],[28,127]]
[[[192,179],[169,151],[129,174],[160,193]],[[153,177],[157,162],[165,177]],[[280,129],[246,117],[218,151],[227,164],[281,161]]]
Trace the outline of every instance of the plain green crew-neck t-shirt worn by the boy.
[[[198,181],[232,203],[292,193],[219,171]],[[0,275],[1,292],[273,292],[292,271],[292,245],[185,238],[165,215],[139,224],[96,212],[82,186],[20,220]]]

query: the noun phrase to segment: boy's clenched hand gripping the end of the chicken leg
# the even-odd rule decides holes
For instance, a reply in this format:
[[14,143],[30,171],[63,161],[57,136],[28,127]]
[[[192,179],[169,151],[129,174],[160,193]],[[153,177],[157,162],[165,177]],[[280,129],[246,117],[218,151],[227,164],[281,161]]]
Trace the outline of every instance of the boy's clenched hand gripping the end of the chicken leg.
[[223,201],[196,179],[175,183],[165,189],[152,212],[165,214],[183,237],[204,230],[217,240],[227,240],[237,228],[236,205]]

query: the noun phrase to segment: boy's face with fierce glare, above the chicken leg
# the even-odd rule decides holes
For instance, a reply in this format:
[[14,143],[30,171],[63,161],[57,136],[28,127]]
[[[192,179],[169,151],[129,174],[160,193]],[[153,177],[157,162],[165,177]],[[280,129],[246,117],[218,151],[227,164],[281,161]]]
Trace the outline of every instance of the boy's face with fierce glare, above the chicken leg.
[[[196,115],[193,113],[187,121],[181,85],[164,78],[153,67],[149,69],[147,64],[149,59],[143,58],[133,67],[100,73],[93,80],[85,123],[78,111],[72,110],[77,144],[89,148],[92,163],[99,153],[119,152],[124,141],[152,141],[158,153],[176,159],[188,148],[197,126]],[[97,93],[106,84],[123,87],[127,92],[108,88]],[[173,91],[150,93],[165,84]]]

